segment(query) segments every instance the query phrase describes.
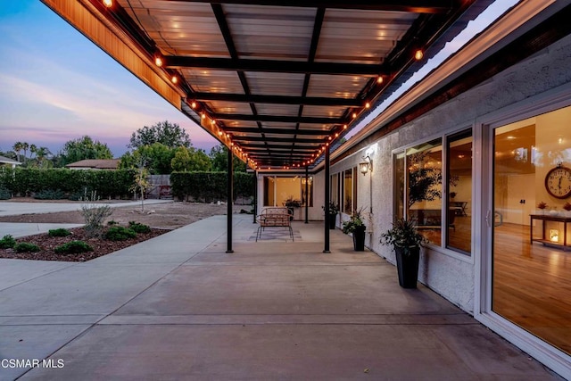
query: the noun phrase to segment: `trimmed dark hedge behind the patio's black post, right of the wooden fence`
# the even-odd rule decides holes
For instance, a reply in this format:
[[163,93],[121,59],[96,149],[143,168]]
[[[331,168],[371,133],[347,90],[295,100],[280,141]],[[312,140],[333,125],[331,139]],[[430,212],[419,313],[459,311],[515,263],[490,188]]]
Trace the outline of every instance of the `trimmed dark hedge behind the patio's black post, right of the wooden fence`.
[[[172,172],[171,192],[179,200],[226,200],[227,178],[226,172]],[[254,184],[252,173],[234,173],[234,200],[238,196],[252,196]]]

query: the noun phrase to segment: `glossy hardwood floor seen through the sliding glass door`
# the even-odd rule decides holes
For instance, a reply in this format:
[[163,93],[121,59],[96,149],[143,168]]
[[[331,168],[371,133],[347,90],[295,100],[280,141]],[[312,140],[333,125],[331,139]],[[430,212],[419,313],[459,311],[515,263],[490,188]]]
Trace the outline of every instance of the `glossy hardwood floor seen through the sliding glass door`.
[[529,227],[494,229],[492,310],[571,354],[571,252],[530,244]]

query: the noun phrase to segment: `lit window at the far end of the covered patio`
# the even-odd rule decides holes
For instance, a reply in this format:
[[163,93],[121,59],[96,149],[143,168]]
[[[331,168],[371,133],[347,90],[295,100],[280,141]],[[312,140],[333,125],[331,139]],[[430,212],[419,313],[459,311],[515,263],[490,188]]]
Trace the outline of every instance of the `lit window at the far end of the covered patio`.
[[313,178],[308,178],[309,197],[305,195],[305,177],[264,177],[264,206],[284,206],[287,201],[297,201],[305,206],[306,198],[308,206],[313,206]]

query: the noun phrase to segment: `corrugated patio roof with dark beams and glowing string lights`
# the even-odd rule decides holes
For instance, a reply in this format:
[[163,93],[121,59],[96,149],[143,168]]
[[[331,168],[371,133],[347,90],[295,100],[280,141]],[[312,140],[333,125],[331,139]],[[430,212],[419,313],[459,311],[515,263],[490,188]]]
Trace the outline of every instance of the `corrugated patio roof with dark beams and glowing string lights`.
[[492,0],[44,2],[252,168],[294,169]]

